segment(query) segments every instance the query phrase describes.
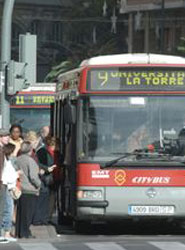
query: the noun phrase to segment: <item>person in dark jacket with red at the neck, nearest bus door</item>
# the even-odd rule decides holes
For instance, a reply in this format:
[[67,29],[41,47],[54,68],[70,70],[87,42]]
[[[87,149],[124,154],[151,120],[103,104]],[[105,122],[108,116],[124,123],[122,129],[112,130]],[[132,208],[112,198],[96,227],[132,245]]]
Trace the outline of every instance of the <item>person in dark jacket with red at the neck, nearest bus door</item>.
[[43,225],[51,221],[51,215],[55,203],[55,187],[57,185],[56,176],[60,175],[58,174],[60,168],[58,167],[58,153],[56,157],[56,145],[56,138],[48,137],[46,139],[46,145],[41,146],[36,150],[38,164],[42,171],[40,171],[42,185],[33,221],[34,225]]

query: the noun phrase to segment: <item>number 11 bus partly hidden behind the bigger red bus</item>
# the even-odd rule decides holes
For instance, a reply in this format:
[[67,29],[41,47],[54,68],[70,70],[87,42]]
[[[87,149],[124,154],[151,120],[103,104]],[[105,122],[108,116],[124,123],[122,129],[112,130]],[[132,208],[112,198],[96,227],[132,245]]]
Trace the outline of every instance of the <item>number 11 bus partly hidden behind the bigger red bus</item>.
[[54,102],[56,83],[37,83],[18,92],[10,101],[10,122],[23,131],[38,132],[50,125],[50,105]]

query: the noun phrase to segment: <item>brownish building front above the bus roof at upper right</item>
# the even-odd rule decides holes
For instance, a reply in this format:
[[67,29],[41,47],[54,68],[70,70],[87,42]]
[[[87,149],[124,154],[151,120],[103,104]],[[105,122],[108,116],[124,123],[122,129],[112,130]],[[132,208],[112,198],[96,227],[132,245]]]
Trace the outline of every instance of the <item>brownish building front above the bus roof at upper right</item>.
[[128,0],[125,14],[129,52],[179,53],[185,37],[184,0]]

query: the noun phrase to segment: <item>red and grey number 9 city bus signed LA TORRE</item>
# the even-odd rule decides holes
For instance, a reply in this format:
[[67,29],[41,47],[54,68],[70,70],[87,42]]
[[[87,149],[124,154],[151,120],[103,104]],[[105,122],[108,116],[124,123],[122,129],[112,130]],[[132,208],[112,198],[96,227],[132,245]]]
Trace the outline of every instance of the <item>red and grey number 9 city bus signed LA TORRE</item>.
[[53,133],[63,214],[86,222],[185,217],[185,59],[90,58],[58,78]]

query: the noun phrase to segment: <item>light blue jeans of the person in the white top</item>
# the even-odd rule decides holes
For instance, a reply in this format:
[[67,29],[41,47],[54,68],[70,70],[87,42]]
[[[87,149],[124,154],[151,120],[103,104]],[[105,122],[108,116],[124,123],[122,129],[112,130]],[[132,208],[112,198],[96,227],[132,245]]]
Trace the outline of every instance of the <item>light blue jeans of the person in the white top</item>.
[[5,206],[3,213],[3,226],[2,226],[5,232],[11,231],[13,210],[14,210],[13,198],[11,197],[8,189],[6,189]]

